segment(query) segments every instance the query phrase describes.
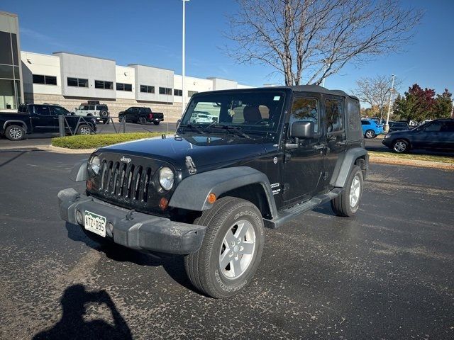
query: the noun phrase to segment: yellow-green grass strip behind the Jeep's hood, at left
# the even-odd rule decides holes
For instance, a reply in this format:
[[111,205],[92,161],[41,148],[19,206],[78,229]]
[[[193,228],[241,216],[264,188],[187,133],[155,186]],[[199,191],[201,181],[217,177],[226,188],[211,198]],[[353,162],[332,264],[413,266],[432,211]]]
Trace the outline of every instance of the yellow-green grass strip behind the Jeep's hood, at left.
[[93,149],[105,147],[121,142],[131,140],[140,140],[142,138],[157,137],[162,132],[128,132],[128,133],[110,133],[105,135],[75,135],[67,137],[52,138],[54,147],[65,147],[67,149]]

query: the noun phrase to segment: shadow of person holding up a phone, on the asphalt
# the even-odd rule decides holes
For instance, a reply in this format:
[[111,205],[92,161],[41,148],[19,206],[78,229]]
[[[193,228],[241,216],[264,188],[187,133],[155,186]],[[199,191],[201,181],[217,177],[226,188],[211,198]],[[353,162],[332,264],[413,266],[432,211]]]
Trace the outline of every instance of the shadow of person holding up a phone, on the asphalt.
[[[106,290],[87,292],[84,285],[71,285],[66,288],[60,303],[63,314],[51,329],[42,331],[33,339],[133,339],[131,329]],[[114,318],[114,326],[102,319],[85,321],[87,304],[105,304]]]

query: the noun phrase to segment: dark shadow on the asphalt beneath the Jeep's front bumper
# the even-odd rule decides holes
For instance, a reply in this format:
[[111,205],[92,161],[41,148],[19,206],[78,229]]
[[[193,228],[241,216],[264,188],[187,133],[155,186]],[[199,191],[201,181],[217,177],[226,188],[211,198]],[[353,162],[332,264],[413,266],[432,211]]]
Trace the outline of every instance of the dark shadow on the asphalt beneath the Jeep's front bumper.
[[[184,256],[181,255],[172,255],[172,254],[158,254],[158,253],[145,253],[142,251],[137,251],[134,249],[126,248],[125,246],[120,246],[114,242],[109,242],[106,240],[104,244],[94,241],[94,239],[89,238],[82,227],[79,225],[72,225],[69,222],[66,222],[65,225],[68,237],[73,241],[84,242],[87,246],[101,251],[106,256],[116,262],[131,262],[138,264],[139,266],[162,266],[166,273],[177,282],[179,285],[184,286],[189,290],[196,292],[195,288],[189,282],[187,278],[186,271],[184,271]],[[94,234],[94,238],[96,239]]]

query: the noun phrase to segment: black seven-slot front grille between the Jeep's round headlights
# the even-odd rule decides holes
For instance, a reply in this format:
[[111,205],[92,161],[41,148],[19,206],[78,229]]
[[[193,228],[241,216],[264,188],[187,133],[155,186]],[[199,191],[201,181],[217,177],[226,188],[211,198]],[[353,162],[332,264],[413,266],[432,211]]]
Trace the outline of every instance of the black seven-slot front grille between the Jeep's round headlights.
[[152,177],[150,167],[104,159],[99,191],[114,200],[147,203]]

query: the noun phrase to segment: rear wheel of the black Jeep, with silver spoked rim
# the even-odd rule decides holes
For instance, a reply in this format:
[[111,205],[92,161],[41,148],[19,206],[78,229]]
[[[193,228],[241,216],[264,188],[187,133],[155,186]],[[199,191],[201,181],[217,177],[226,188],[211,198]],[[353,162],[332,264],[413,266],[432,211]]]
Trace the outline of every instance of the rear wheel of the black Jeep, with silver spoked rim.
[[[359,187],[358,187],[359,184]],[[354,166],[348,176],[347,183],[341,193],[331,200],[331,208],[338,216],[349,217],[355,215],[360,207],[364,177],[358,165]],[[353,191],[355,190],[355,191]],[[350,193],[352,195],[350,196]]]

